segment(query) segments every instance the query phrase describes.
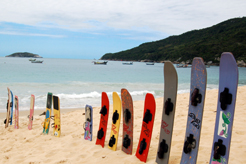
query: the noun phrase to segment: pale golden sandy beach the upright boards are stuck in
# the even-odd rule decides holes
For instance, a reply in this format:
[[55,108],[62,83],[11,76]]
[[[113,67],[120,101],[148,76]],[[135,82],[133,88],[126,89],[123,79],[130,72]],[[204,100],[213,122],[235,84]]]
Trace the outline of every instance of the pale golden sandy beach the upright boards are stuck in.
[[[236,110],[234,117],[229,163],[246,163],[246,86],[238,87]],[[198,164],[207,164],[212,150],[214,123],[217,109],[218,90],[207,90],[205,108],[201,129],[201,140],[198,152]],[[189,93],[178,94],[175,123],[173,130],[170,164],[179,164],[185,138],[185,126],[189,105]],[[45,106],[45,104],[44,104]],[[42,134],[44,116],[39,116],[44,110],[34,111],[33,129],[28,130],[28,111],[20,114],[20,128],[9,126],[5,129],[6,113],[0,114],[0,163],[143,163],[136,158],[135,153],[140,137],[144,101],[134,101],[134,141],[133,154],[127,155],[121,151],[122,120],[116,151],[107,148],[112,125],[113,105],[110,105],[108,129],[105,147],[95,145],[100,120],[100,107],[93,107],[93,140],[84,140],[83,124],[84,109],[61,109],[61,137],[54,137],[53,129],[48,135]],[[156,99],[156,115],[153,128],[149,155],[146,163],[155,163],[160,134],[160,123],[163,107],[163,98]]]

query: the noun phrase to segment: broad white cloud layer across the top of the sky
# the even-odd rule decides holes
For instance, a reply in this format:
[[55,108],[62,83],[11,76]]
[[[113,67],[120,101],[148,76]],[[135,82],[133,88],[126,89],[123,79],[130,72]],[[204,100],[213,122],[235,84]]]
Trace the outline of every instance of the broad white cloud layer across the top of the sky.
[[175,35],[246,16],[245,0],[1,0],[0,22]]

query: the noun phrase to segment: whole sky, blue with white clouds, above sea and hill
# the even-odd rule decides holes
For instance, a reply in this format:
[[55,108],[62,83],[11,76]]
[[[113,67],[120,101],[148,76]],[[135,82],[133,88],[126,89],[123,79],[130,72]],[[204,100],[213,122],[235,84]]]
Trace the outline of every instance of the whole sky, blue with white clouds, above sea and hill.
[[0,57],[99,59],[246,16],[245,0],[0,0]]

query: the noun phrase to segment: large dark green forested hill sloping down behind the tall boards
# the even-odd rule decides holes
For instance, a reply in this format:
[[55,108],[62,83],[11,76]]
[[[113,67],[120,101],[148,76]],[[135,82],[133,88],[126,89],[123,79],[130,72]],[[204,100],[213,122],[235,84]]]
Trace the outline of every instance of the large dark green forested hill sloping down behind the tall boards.
[[209,28],[143,43],[138,47],[107,53],[103,60],[187,61],[202,57],[218,62],[222,52],[232,52],[236,60],[246,61],[246,17],[234,18]]

